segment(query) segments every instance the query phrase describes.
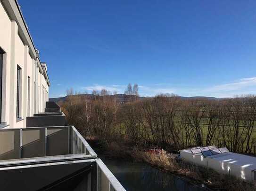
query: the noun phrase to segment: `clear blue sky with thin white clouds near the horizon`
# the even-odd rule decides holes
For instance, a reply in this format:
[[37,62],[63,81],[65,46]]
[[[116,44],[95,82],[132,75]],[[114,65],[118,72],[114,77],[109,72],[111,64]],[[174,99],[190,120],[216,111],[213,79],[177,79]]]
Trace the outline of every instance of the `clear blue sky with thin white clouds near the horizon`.
[[48,63],[50,97],[68,88],[142,96],[256,94],[255,0],[19,0]]

